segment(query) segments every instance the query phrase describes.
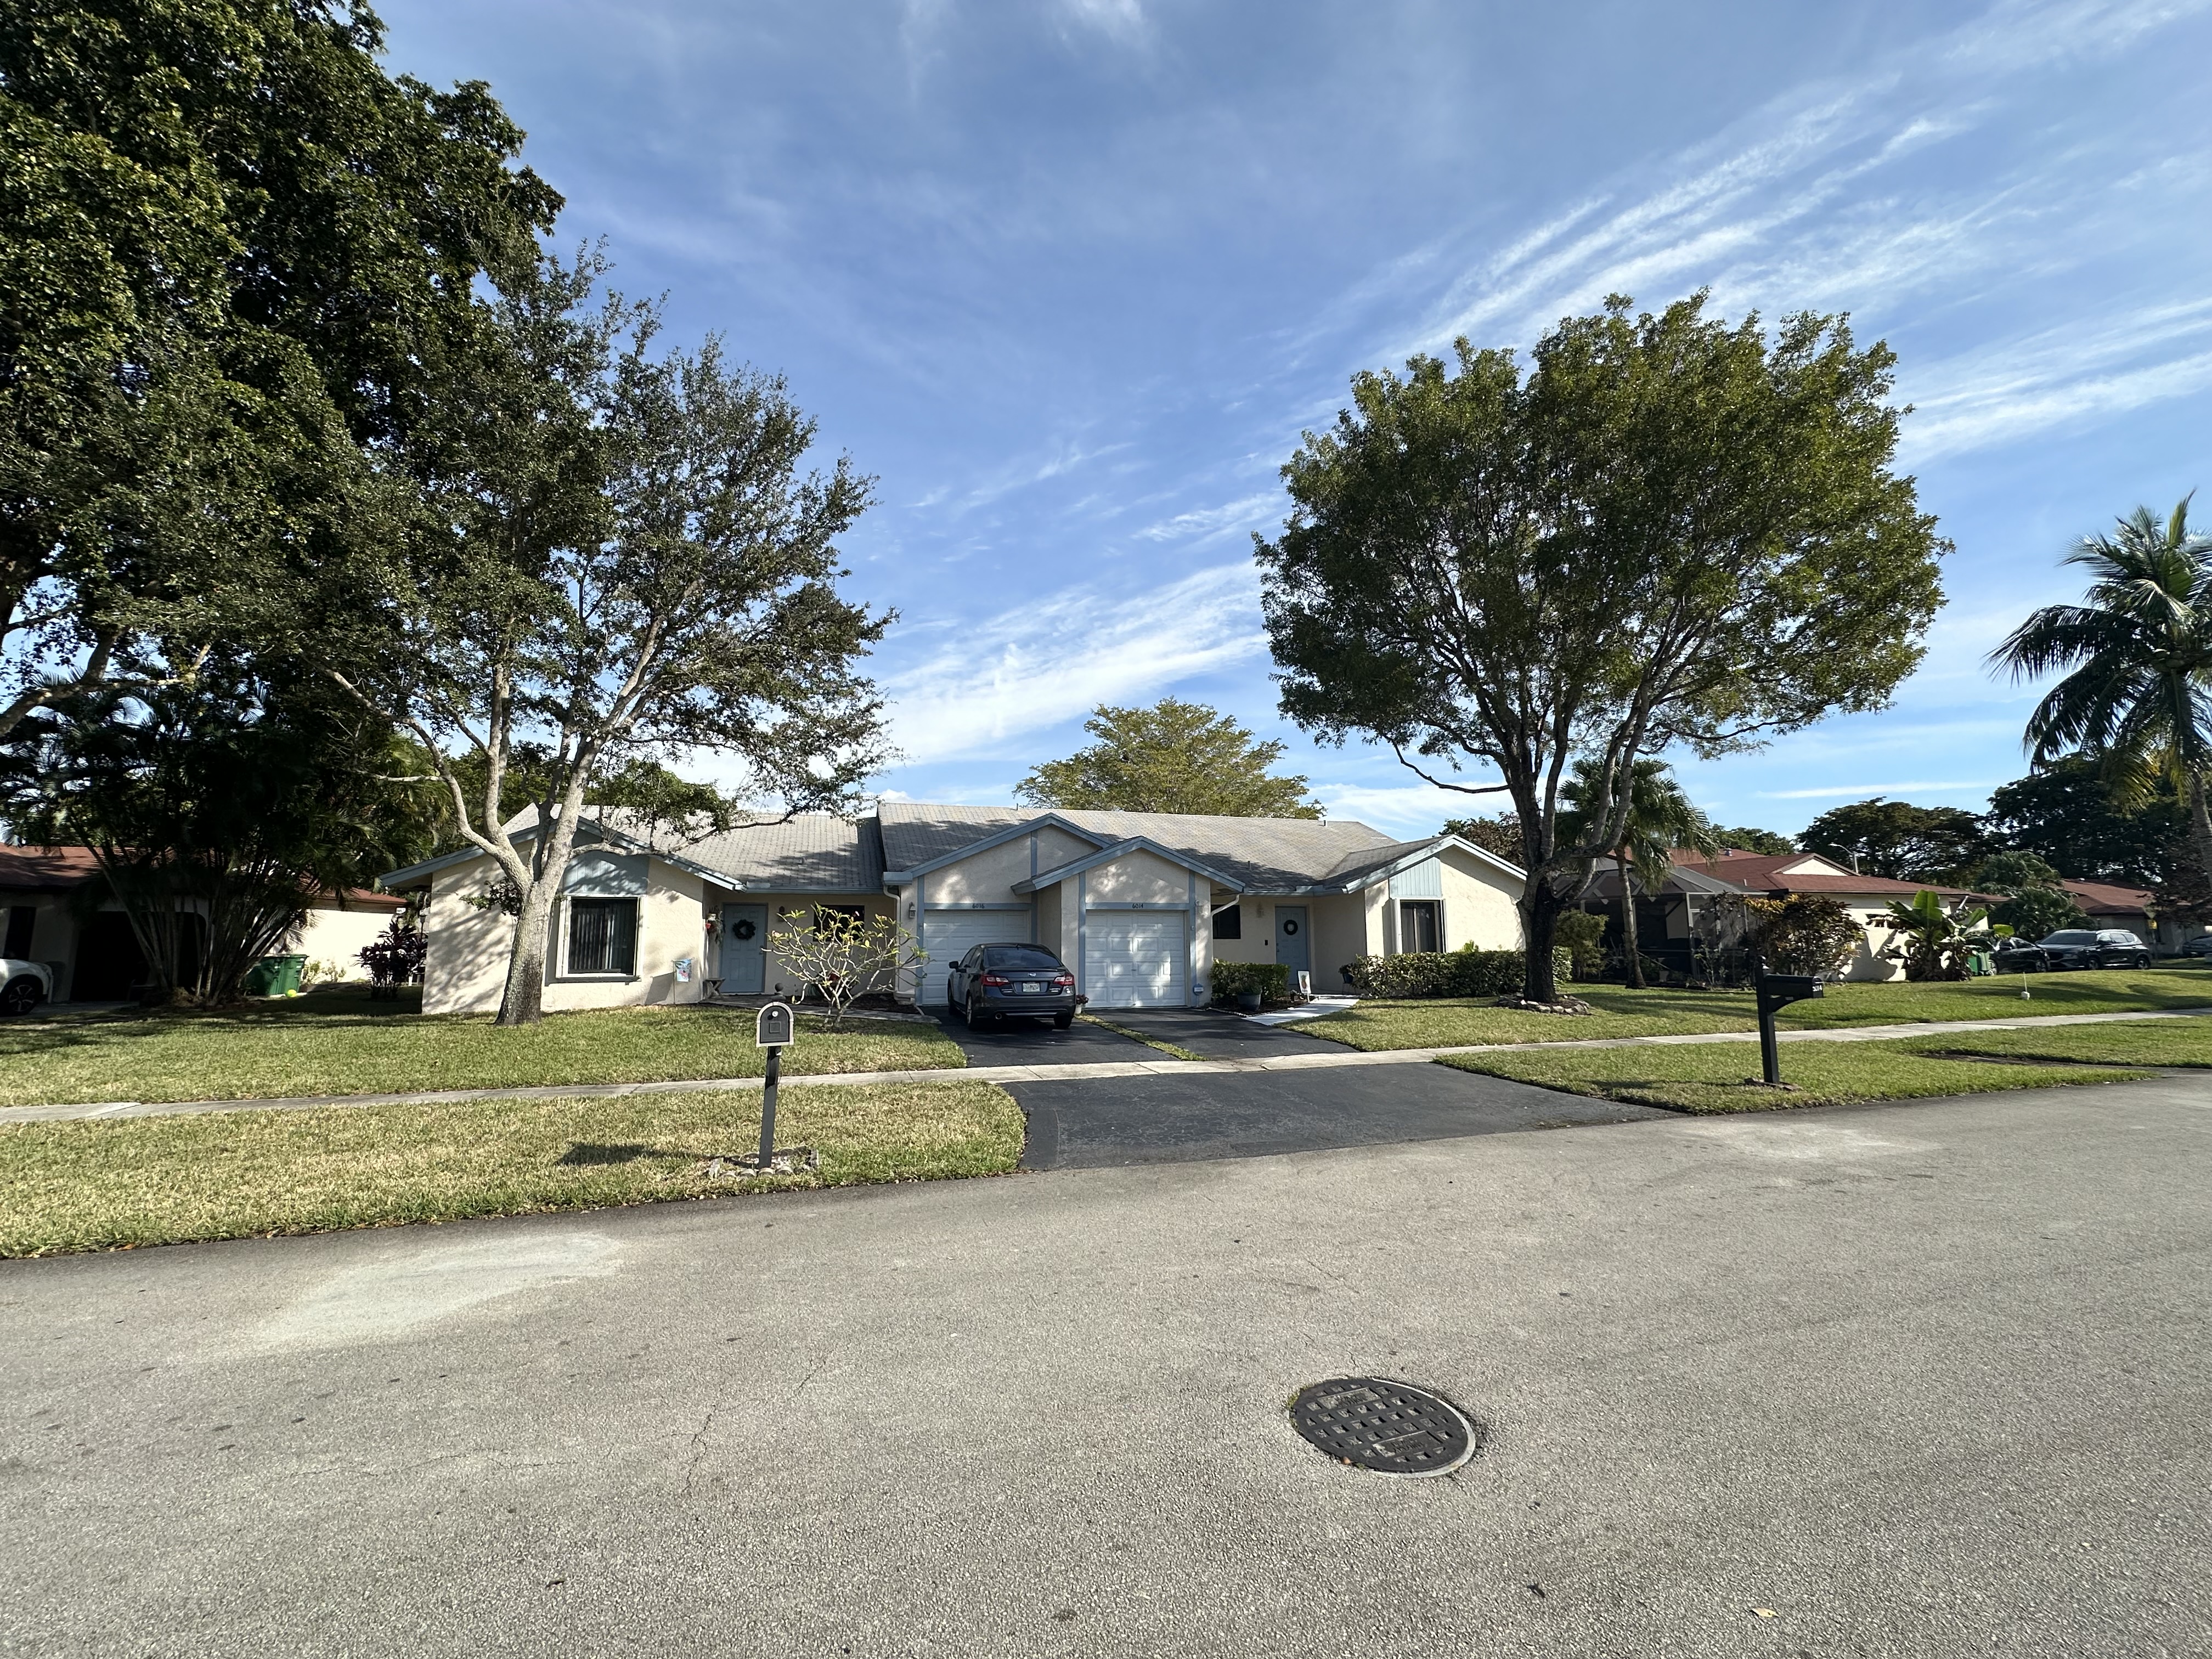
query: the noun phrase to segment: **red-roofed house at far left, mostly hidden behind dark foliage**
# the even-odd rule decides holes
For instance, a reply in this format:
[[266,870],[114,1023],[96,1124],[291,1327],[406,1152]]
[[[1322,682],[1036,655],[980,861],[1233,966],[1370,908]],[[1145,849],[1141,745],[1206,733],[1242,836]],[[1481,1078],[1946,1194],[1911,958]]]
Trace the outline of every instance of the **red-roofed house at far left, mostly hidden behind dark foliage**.
[[[356,956],[400,909],[392,894],[325,894],[288,949],[332,964],[332,978],[365,980]],[[122,1002],[146,978],[131,918],[88,847],[0,845],[0,956],[44,962],[55,1002]]]

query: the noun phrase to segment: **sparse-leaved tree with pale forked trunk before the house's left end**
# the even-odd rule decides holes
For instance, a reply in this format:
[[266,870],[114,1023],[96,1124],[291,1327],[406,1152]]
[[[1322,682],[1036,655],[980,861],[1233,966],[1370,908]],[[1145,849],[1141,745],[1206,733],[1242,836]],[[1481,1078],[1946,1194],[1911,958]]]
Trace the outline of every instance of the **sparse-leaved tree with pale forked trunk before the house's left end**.
[[[518,894],[500,1024],[542,1018],[595,781],[719,752],[792,816],[849,810],[885,754],[854,661],[889,617],[834,588],[867,480],[843,458],[801,473],[814,422],[783,380],[714,341],[655,356],[648,307],[591,305],[599,276],[584,259],[509,281],[416,458],[422,533],[323,606],[330,672],[420,741],[460,841]],[[502,810],[524,748],[529,849]]]

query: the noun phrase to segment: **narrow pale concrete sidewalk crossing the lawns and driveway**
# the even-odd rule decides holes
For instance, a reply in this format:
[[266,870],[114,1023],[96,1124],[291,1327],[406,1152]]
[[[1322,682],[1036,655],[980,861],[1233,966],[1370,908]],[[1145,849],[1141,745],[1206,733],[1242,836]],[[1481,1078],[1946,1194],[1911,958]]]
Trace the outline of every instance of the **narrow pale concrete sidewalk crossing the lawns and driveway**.
[[[2212,1009],[2135,1013],[2048,1013],[2033,1020],[1922,1020],[1896,1026],[1840,1031],[1783,1031],[1783,1042],[1896,1042],[1944,1037],[1953,1031],[2033,1031],[2037,1026],[2097,1026],[2124,1020],[2201,1020]],[[940,1066],[933,1071],[838,1071],[785,1077],[785,1088],[856,1084],[1066,1084],[1113,1077],[1201,1077],[1225,1071],[1314,1071],[1327,1066],[1425,1066],[1451,1055],[1526,1053],[1531,1048],[1657,1048],[1694,1042],[1759,1042],[1756,1031],[1690,1031],[1666,1037],[1579,1037],[1568,1042],[1467,1042],[1449,1048],[1336,1048],[1250,1060],[1106,1060],[1077,1066]],[[285,1095],[276,1099],[111,1099],[64,1106],[0,1106],[0,1124],[46,1124],[77,1117],[170,1117],[179,1113],[312,1110],[316,1106],[440,1106],[462,1099],[613,1099],[619,1095],[681,1095],[695,1088],[759,1088],[759,1077],[679,1077],[655,1084],[538,1084],[531,1088],[434,1088],[407,1095]]]

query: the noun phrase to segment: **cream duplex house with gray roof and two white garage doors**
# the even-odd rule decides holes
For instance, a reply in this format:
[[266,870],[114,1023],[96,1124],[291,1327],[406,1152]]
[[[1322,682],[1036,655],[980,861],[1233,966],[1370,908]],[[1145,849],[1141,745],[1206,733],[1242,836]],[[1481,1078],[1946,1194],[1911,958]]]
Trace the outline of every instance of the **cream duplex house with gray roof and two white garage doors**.
[[[487,902],[495,874],[462,849],[383,878],[427,894],[427,1013],[500,1002],[513,922]],[[1349,821],[885,801],[858,821],[666,847],[606,814],[577,825],[544,1006],[796,993],[768,938],[818,909],[896,916],[929,956],[896,991],[925,1004],[969,947],[1006,940],[1053,947],[1106,1009],[1203,1004],[1217,960],[1283,962],[1332,991],[1358,956],[1517,945],[1520,887],[1520,869],[1458,836],[1391,841]]]

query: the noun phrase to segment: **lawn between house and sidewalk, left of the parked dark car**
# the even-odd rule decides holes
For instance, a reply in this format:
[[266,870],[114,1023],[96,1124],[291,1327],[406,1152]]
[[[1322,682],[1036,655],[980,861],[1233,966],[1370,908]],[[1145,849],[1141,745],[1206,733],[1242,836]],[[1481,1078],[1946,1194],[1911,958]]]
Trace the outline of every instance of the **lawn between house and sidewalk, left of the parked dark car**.
[[[799,1022],[787,1075],[962,1066],[931,1022]],[[0,1106],[392,1095],[420,1088],[759,1077],[750,1009],[595,1009],[502,1031],[487,1015],[312,991],[230,1013],[97,1013],[0,1024]]]

